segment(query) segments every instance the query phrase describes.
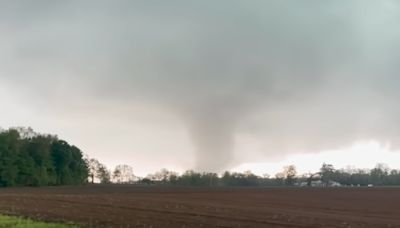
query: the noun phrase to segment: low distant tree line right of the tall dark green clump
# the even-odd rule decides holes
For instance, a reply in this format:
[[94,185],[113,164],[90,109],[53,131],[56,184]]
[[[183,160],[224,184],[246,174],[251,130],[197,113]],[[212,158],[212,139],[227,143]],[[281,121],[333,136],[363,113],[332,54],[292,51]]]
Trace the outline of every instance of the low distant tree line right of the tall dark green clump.
[[[193,170],[178,174],[161,169],[146,177],[138,177],[129,165],[118,165],[113,171],[93,159],[96,164],[90,171],[91,181],[98,178],[100,183],[170,185],[170,186],[399,186],[400,170],[377,164],[373,169],[335,169],[323,164],[318,172],[298,174],[294,165],[285,166],[275,176],[255,175],[251,171],[229,172],[222,175]],[[99,167],[96,170],[96,167]]]

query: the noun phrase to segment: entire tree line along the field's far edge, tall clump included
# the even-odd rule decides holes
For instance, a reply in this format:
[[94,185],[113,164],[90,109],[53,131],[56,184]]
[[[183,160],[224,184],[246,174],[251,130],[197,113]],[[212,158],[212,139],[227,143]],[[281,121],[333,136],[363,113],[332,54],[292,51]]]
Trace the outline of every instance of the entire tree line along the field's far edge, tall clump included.
[[323,164],[318,172],[299,175],[294,165],[275,176],[251,171],[212,172],[188,170],[182,174],[161,169],[146,177],[134,175],[123,164],[109,170],[95,158],[53,135],[31,128],[0,129],[0,186],[51,186],[85,183],[117,183],[175,186],[394,186],[400,170],[377,164],[373,169],[335,169]]

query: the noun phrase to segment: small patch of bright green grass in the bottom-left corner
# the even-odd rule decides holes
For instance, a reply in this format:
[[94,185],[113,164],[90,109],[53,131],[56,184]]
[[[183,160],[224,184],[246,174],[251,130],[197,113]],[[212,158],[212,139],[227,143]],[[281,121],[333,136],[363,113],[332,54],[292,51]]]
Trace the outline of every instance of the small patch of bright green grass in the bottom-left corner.
[[76,225],[45,223],[20,217],[0,215],[0,228],[77,228]]

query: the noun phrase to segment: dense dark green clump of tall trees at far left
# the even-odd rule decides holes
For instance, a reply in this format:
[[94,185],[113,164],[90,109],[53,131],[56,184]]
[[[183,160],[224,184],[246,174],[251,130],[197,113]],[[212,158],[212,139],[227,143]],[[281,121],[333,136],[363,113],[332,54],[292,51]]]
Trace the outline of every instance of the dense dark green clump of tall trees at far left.
[[79,148],[31,128],[0,130],[0,186],[75,185],[87,182]]

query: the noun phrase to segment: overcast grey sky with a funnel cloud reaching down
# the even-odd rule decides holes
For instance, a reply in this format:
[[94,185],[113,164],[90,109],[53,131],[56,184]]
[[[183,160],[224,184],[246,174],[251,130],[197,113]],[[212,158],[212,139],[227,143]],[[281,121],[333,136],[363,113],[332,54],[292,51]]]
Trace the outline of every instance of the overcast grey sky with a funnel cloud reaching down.
[[393,161],[399,25],[390,0],[1,1],[0,126],[138,173],[340,158],[371,141]]

